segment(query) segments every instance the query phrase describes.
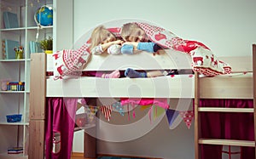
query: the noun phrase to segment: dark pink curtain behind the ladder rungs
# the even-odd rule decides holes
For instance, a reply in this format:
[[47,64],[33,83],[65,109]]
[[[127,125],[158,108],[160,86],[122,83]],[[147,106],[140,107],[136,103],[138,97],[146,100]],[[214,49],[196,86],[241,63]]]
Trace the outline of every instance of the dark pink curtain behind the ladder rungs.
[[[253,108],[253,99],[201,99],[201,107]],[[253,113],[201,112],[201,137],[254,140]],[[221,145],[201,145],[202,159],[221,159]],[[253,147],[241,147],[241,159],[255,159]]]

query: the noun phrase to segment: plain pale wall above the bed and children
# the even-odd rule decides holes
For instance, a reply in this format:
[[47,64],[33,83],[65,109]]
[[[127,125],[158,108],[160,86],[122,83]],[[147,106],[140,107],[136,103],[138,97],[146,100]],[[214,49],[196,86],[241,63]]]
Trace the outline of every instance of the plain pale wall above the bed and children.
[[256,43],[255,0],[73,1],[74,40],[104,22],[136,18],[205,43],[218,56],[250,55]]

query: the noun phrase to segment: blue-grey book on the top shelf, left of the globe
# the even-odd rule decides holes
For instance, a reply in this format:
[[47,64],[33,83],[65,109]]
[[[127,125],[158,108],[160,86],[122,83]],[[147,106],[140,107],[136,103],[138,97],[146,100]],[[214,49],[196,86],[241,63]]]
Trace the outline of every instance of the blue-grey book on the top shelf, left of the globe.
[[17,14],[3,12],[3,23],[6,29],[19,27]]

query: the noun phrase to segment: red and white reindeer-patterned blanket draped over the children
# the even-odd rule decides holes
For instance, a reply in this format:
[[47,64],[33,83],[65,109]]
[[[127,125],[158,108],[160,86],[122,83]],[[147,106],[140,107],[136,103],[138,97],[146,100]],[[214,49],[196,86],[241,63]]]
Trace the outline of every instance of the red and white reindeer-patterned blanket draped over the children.
[[[183,40],[177,37],[171,31],[158,26],[152,26],[147,23],[138,23],[143,28],[149,39],[159,44],[163,48],[175,49],[191,56],[191,65],[194,71],[214,77],[222,74],[229,74],[231,67],[224,61],[218,60],[218,57],[212,53],[203,43],[196,41]],[[120,35],[121,29],[109,28],[116,36]],[[90,60],[90,39],[84,45],[77,49],[64,49],[53,54],[55,79],[61,79],[70,75],[79,75]]]

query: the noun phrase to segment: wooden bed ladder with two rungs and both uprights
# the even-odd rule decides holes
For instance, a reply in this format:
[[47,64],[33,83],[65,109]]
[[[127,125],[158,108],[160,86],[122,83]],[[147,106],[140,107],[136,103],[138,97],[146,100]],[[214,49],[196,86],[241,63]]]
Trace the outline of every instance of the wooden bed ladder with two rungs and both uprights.
[[195,159],[201,159],[200,145],[232,145],[254,147],[256,152],[256,131],[254,141],[238,139],[202,139],[200,112],[248,112],[253,113],[254,129],[256,128],[256,44],[253,44],[253,108],[221,108],[221,107],[200,107],[200,77],[195,72]]

